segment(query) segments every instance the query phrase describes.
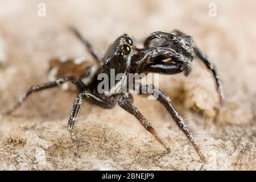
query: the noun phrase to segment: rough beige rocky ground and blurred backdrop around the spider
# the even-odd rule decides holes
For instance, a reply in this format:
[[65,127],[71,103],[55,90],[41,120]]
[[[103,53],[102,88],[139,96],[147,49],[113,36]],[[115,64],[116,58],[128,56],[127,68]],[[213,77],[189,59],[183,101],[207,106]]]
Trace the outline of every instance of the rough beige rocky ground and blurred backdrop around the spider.
[[212,1],[44,2],[47,15],[40,18],[39,1],[0,1],[6,47],[0,113],[29,86],[47,81],[52,57],[92,59],[67,30],[70,25],[101,52],[123,32],[136,40],[174,28],[192,35],[220,72],[226,105],[218,105],[210,72],[195,60],[191,76],[161,76],[160,87],[189,123],[207,163],[200,162],[162,106],[138,96],[135,105],[170,144],[171,153],[120,108],[104,110],[84,102],[75,126],[76,159],[67,130],[76,93],[58,88],[36,93],[13,115],[0,114],[0,169],[256,169],[255,2],[214,1],[216,17],[208,15]]

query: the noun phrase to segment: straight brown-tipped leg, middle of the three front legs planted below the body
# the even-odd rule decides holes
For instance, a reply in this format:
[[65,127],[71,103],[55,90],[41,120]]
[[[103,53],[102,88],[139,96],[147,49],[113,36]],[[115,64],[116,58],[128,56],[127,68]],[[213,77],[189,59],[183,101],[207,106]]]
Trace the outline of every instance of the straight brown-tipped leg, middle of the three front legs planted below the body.
[[139,112],[139,110],[134,105],[130,104],[130,102],[122,97],[119,98],[118,105],[122,107],[122,109],[126,110],[128,113],[133,114],[134,117],[137,118],[138,121],[141,123],[141,125],[152,135],[154,135],[158,142],[160,142],[160,144],[162,144],[162,146],[166,148],[168,152],[170,152],[171,149],[167,145],[167,143],[164,142],[164,140],[158,135],[158,133],[156,133],[154,127],[151,126],[150,122],[147,121],[147,119]]

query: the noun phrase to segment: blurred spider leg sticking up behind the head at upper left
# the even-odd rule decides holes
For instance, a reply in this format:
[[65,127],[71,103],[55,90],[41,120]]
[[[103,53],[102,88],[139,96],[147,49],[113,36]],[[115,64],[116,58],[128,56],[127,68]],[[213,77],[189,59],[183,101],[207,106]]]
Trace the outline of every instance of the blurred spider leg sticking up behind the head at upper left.
[[80,34],[80,32],[75,28],[71,27],[70,30],[76,35],[76,37],[84,44],[89,53],[97,60],[98,63],[101,63],[102,55],[97,49],[92,47],[92,45]]

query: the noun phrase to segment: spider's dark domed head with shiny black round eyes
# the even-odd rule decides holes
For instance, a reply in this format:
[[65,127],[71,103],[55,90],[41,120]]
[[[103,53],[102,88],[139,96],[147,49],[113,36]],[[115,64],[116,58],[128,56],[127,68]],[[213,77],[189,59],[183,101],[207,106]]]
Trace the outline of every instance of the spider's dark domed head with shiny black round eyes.
[[130,67],[134,52],[133,40],[127,34],[119,36],[105,53],[105,68],[115,69],[116,73],[124,73]]

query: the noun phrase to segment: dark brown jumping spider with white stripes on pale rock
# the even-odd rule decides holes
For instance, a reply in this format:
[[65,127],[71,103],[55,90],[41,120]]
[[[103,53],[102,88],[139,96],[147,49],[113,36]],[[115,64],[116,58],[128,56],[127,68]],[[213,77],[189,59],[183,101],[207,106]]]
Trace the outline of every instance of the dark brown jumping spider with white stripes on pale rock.
[[[165,75],[174,75],[176,73],[183,72],[185,76],[188,76],[191,72],[191,62],[195,56],[198,56],[199,59],[207,65],[207,68],[212,71],[216,80],[216,87],[220,96],[220,102],[224,102],[224,94],[221,89],[221,83],[218,79],[216,69],[207,56],[205,56],[195,45],[191,36],[187,36],[177,30],[172,31],[171,33],[157,31],[150,34],[146,40],[144,40],[144,48],[137,48],[134,46],[133,40],[127,34],[123,34],[110,44],[105,55],[102,56],[87,40],[82,38],[81,34],[75,28],[71,28],[71,30],[75,33],[77,38],[81,40],[86,49],[97,61],[97,64],[88,64],[77,59],[52,60],[50,62],[52,68],[51,76],[53,76],[55,81],[32,86],[28,89],[27,93],[20,98],[13,109],[7,111],[7,113],[10,114],[17,109],[33,92],[54,88],[56,86],[63,85],[66,82],[72,82],[79,90],[79,94],[75,98],[73,109],[68,121],[68,130],[71,134],[73,151],[75,154],[77,154],[77,148],[73,126],[77,121],[77,114],[82,104],[82,98],[105,109],[111,109],[115,104],[118,104],[122,109],[133,114],[141,125],[154,135],[154,137],[164,148],[166,148],[167,151],[170,151],[170,147],[166,142],[164,142],[158,133],[156,133],[150,122],[148,122],[139,110],[132,105],[132,95],[118,93],[118,91],[122,89],[120,85],[125,85],[127,82],[128,73],[160,73]],[[169,59],[169,61],[163,61],[167,59]],[[119,81],[115,82],[112,88],[110,88],[115,90],[114,93],[100,94],[97,92],[97,85],[99,84],[97,76],[100,73],[110,75],[110,69],[115,69],[115,74],[123,73],[123,76]],[[200,159],[205,160],[205,157],[189,131],[187,124],[180,114],[177,113],[170,98],[154,85],[140,85],[139,89],[142,89],[144,86],[147,86],[151,90],[154,90],[154,92],[158,93],[158,98],[156,99],[166,107],[177,126],[179,126],[179,129],[183,131],[189,142],[192,143],[197,154],[200,156]],[[139,94],[143,95],[151,93]]]

